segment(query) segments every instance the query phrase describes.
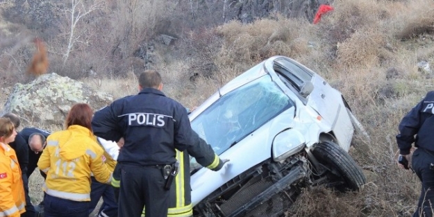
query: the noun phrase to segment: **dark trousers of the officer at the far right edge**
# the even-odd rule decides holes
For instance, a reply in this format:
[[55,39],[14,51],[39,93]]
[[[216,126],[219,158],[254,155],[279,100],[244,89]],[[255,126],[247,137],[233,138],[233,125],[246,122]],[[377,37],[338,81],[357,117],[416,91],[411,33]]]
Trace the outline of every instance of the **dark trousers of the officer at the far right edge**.
[[417,148],[412,156],[412,168],[422,182],[422,192],[419,197],[417,210],[413,217],[432,217],[434,209],[434,170],[430,164],[434,164],[434,153]]

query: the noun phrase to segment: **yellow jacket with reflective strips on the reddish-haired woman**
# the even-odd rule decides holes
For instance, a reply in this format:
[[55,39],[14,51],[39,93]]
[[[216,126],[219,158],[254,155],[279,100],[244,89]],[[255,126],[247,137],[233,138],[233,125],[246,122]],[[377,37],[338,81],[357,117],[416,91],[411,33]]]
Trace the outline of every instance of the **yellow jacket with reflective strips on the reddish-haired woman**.
[[103,163],[103,149],[94,134],[81,125],[54,132],[47,138],[37,167],[47,173],[42,189],[50,196],[90,201],[90,175],[110,183],[112,174]]

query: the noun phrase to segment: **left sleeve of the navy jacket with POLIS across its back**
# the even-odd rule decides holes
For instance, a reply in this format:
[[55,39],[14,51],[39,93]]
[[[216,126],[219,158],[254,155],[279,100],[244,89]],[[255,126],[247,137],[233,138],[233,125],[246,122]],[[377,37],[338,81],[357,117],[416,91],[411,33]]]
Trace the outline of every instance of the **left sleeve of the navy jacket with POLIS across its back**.
[[92,118],[92,130],[97,137],[109,141],[119,141],[122,134],[119,130],[117,115],[113,111],[113,104],[95,112]]

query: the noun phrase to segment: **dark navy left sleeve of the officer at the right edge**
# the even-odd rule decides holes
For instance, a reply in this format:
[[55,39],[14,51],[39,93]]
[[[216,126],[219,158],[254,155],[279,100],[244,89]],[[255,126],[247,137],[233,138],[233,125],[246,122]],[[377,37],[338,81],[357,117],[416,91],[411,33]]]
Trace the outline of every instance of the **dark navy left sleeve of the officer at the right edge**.
[[399,123],[399,134],[397,134],[397,144],[401,155],[410,154],[412,143],[415,142],[415,134],[422,125],[421,110],[424,100],[420,101],[415,107],[406,114]]

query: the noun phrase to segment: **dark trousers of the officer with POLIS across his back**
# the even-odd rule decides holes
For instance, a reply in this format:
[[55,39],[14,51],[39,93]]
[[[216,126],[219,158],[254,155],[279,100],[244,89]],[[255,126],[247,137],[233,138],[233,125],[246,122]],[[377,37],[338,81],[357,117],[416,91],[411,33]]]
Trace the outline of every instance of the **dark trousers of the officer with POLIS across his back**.
[[169,191],[160,168],[122,164],[119,217],[167,216]]

